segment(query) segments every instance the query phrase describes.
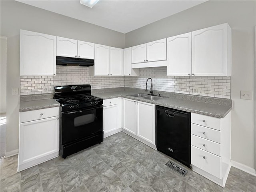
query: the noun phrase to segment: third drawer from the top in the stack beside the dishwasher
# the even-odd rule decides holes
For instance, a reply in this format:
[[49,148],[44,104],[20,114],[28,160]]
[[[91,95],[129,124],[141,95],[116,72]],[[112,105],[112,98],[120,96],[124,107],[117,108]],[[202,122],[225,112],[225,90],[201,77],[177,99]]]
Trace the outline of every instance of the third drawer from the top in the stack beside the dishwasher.
[[202,150],[206,150],[210,153],[216,154],[220,156],[220,144],[195,136],[191,135],[191,145],[196,146]]

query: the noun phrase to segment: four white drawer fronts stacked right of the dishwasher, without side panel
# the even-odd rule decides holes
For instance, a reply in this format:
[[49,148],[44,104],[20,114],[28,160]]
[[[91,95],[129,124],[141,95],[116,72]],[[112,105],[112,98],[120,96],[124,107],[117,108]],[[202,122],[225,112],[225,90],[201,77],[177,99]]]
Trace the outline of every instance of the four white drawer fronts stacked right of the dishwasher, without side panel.
[[220,119],[191,113],[191,164],[221,178]]

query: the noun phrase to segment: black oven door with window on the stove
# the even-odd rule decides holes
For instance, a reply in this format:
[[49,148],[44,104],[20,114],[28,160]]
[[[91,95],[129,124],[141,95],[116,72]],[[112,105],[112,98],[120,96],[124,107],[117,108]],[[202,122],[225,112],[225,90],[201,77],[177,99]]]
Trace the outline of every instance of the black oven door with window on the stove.
[[62,113],[62,145],[103,131],[103,106]]

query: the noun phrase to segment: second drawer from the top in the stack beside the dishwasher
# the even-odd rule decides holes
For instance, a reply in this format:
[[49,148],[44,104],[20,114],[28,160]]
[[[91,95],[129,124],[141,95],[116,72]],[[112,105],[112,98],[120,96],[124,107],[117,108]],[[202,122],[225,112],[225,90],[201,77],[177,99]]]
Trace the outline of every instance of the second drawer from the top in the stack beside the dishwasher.
[[204,126],[191,124],[191,134],[220,143],[220,131]]

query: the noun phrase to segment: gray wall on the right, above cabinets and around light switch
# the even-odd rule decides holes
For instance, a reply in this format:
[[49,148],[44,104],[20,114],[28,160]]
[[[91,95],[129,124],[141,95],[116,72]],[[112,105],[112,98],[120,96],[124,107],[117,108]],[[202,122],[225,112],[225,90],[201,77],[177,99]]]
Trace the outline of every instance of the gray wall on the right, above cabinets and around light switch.
[[[208,1],[125,34],[125,47],[228,22],[232,28],[232,160],[255,168],[256,1]],[[240,99],[253,90],[254,100]]]

